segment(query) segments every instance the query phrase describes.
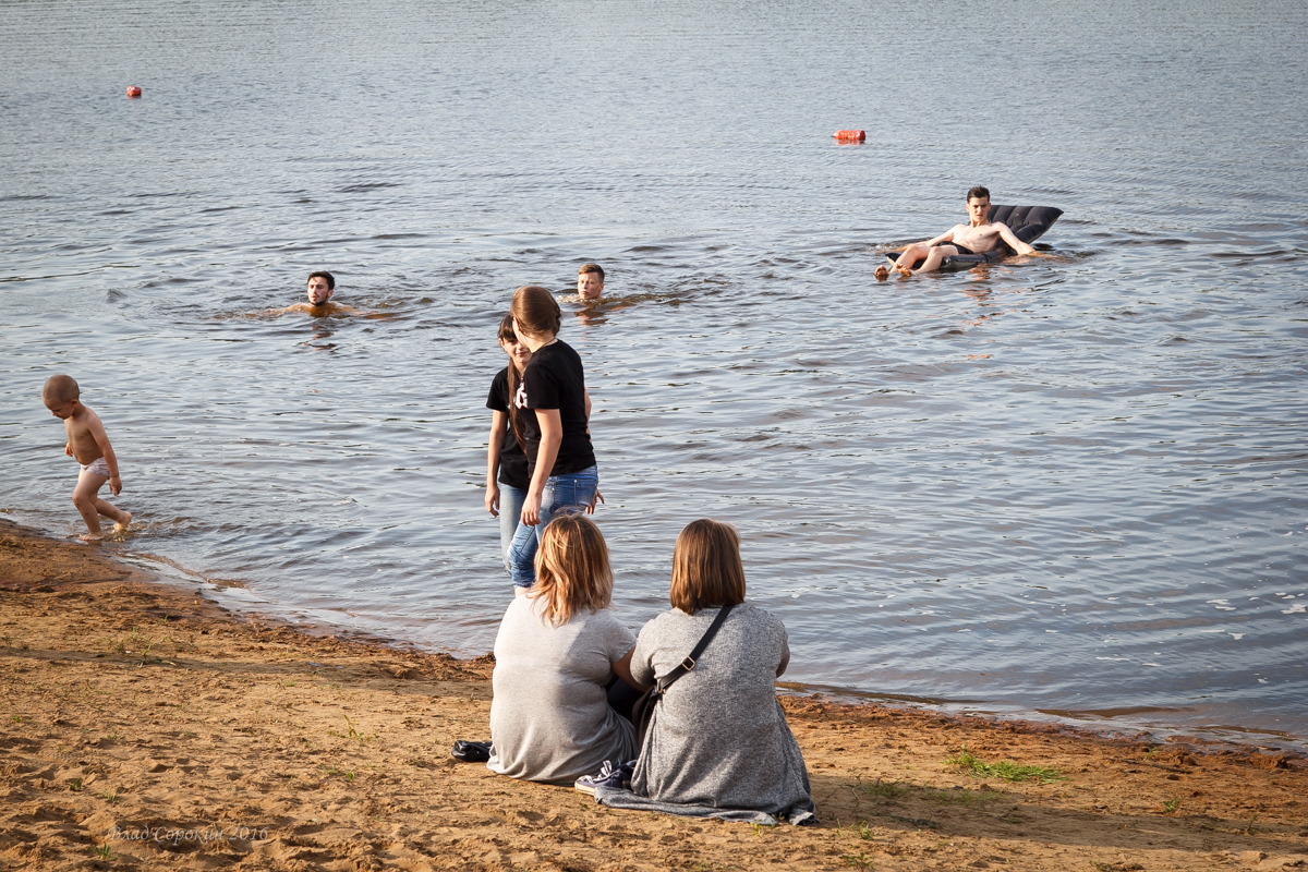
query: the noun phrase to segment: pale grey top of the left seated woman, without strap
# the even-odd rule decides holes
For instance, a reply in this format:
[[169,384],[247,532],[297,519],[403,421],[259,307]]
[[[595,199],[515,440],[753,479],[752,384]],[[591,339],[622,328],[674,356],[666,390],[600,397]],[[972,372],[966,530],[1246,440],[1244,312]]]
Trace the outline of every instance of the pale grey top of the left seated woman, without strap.
[[636,758],[636,732],[604,696],[612,664],[636,635],[608,609],[552,626],[540,617],[543,605],[515,597],[500,622],[487,766],[510,778],[572,784],[606,760]]

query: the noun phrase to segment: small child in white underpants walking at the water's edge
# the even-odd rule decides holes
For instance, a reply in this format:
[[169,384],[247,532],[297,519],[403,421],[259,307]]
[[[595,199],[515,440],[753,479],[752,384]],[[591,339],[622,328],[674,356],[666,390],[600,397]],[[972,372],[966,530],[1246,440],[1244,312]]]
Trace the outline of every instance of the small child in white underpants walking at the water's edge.
[[77,488],[73,489],[73,505],[86,522],[86,535],[82,541],[97,543],[105,537],[99,531],[99,515],[114,520],[114,529],[123,531],[132,523],[132,512],[115,509],[99,498],[99,489],[109,482],[109,489],[116,497],[123,490],[123,480],[118,477],[118,458],[114,446],[109,443],[105,425],[99,416],[81,404],[81,390],[68,375],[52,375],[41,388],[41,400],[50,413],[64,422],[68,442],[64,454],[76,458],[81,464]]

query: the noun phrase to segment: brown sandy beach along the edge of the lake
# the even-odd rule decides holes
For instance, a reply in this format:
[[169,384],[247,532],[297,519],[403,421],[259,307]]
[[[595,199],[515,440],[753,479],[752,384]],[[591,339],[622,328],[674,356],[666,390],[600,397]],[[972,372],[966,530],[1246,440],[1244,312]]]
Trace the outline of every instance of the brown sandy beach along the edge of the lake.
[[4,522],[0,588],[0,868],[1308,867],[1294,756],[785,696],[820,828],[617,812],[449,756],[488,737],[489,655],[238,617]]

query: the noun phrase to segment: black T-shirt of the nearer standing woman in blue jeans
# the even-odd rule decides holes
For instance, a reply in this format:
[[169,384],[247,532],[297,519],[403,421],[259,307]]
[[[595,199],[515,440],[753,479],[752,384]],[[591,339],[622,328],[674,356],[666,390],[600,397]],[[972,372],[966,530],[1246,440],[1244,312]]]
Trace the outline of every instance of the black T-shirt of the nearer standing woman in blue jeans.
[[519,409],[522,435],[527,442],[527,469],[536,472],[536,452],[540,451],[540,424],[526,409],[559,409],[564,425],[564,439],[555,458],[552,476],[565,476],[595,465],[595,451],[586,431],[586,374],[581,356],[572,345],[555,340],[531,354],[522,374],[522,386],[514,403]]

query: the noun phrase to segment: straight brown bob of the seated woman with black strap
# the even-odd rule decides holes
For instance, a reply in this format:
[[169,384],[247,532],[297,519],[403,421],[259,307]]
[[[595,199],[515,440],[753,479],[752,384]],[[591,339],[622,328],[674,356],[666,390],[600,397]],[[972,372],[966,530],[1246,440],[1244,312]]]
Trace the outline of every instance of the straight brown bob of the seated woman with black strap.
[[735,527],[708,518],[685,526],[672,549],[668,599],[687,614],[744,603],[744,566]]

